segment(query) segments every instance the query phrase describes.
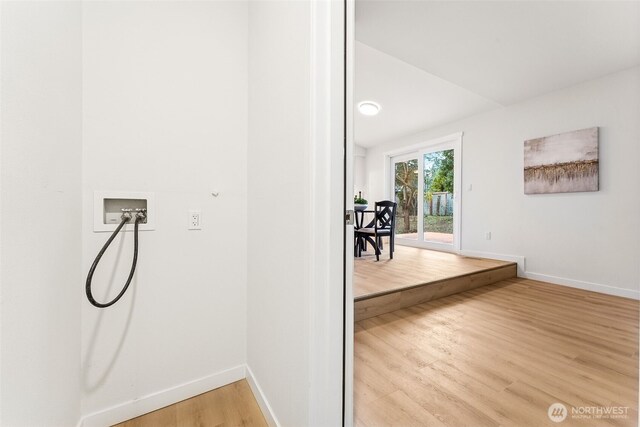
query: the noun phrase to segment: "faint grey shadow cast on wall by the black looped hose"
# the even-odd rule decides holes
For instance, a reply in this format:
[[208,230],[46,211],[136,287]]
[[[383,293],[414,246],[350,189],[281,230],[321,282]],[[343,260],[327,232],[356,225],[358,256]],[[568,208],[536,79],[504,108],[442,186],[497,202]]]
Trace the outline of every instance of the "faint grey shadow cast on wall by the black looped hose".
[[[122,277],[116,277],[116,272],[118,271],[118,266],[120,265],[120,260],[122,259],[122,248],[124,248],[125,246],[125,241],[127,240],[126,236],[127,236],[127,233],[121,233],[120,242],[118,244],[118,249],[115,256],[115,263],[113,264],[113,267],[112,267],[113,270],[111,272],[111,277],[109,278],[108,286],[103,295],[104,300],[106,300],[107,295],[111,295],[113,293],[112,290],[114,286],[123,285],[123,283],[121,282],[124,279]],[[108,267],[104,266],[103,268],[108,268]],[[94,365],[93,360],[94,360],[94,355],[96,351],[96,346],[98,345],[98,338],[101,335],[104,335],[102,333],[104,331],[102,324],[105,319],[105,316],[108,315],[107,311],[110,310],[110,308],[106,308],[106,309],[94,308],[92,306],[92,308],[94,308],[95,310],[99,310],[99,313],[97,316],[95,327],[93,328],[93,332],[91,334],[91,340],[89,341],[89,345],[87,346],[87,353],[84,359],[82,360],[82,384],[83,384],[84,391],[88,393],[92,393],[100,389],[100,387],[102,387],[105,380],[109,377],[109,374],[111,373],[111,370],[115,366],[116,361],[118,360],[118,356],[122,351],[122,347],[124,346],[124,342],[127,338],[127,335],[129,333],[129,329],[131,326],[131,319],[133,318],[133,308],[135,307],[136,294],[137,294],[137,288],[138,288],[137,282],[138,282],[138,278],[137,276],[134,276],[131,282],[131,286],[129,286],[129,289],[127,291],[127,293],[132,293],[132,296],[131,296],[131,301],[129,303],[130,305],[127,313],[127,320],[125,322],[124,329],[120,334],[120,339],[118,340],[118,344],[113,349],[113,354],[109,358],[109,363],[106,364],[104,371],[96,375],[95,380],[91,380],[90,371],[92,370]],[[118,289],[118,292],[119,292],[119,289]],[[96,300],[98,300],[98,298],[96,298]],[[123,298],[116,304],[124,304],[124,301],[125,300]],[[105,327],[109,327],[109,324],[107,324]]]

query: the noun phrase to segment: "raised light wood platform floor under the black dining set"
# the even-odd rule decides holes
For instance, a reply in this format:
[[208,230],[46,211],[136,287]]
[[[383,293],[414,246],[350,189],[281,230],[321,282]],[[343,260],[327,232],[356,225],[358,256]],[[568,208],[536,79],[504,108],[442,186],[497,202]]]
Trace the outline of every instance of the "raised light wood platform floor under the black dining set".
[[400,245],[396,245],[393,259],[389,259],[388,249],[385,244],[380,261],[376,261],[373,254],[355,257],[353,296],[356,300],[513,264]]

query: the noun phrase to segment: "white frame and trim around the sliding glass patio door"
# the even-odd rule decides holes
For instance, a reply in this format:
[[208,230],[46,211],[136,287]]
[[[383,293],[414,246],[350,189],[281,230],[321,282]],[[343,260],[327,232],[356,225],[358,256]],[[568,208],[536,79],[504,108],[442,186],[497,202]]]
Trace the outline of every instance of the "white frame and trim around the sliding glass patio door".
[[[443,244],[437,242],[426,242],[420,239],[420,233],[424,233],[423,221],[418,221],[418,239],[397,238],[400,245],[413,246],[426,249],[434,249],[445,252],[459,253],[462,250],[462,136],[463,132],[457,132],[440,138],[429,139],[417,144],[408,145],[396,150],[383,153],[384,158],[384,191],[385,197],[394,200],[395,189],[392,171],[394,159],[418,158],[419,175],[424,173],[424,154],[433,151],[454,150],[453,164],[453,244]],[[418,178],[418,193],[424,194],[424,179]],[[420,196],[419,196],[420,197]],[[424,215],[424,206],[418,203],[418,217]]]

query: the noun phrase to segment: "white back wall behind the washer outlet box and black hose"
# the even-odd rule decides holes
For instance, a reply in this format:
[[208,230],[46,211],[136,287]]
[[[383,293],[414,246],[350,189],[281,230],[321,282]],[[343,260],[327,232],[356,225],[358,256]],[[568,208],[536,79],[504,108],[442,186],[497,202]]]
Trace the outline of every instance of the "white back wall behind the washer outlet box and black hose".
[[[93,191],[157,198],[128,294],[106,310],[83,302],[82,411],[123,404],[89,418],[107,424],[244,377],[248,10],[219,1],[83,10],[84,274],[108,237],[92,231]],[[202,211],[201,231],[187,230],[191,209]],[[119,291],[131,254],[127,233],[94,277],[101,300]]]

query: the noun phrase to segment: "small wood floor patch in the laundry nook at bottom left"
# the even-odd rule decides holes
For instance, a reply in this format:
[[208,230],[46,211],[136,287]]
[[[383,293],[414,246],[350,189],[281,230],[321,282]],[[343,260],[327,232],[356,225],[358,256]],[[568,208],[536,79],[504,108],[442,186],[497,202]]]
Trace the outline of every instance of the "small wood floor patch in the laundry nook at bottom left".
[[246,380],[220,387],[116,427],[267,426]]

